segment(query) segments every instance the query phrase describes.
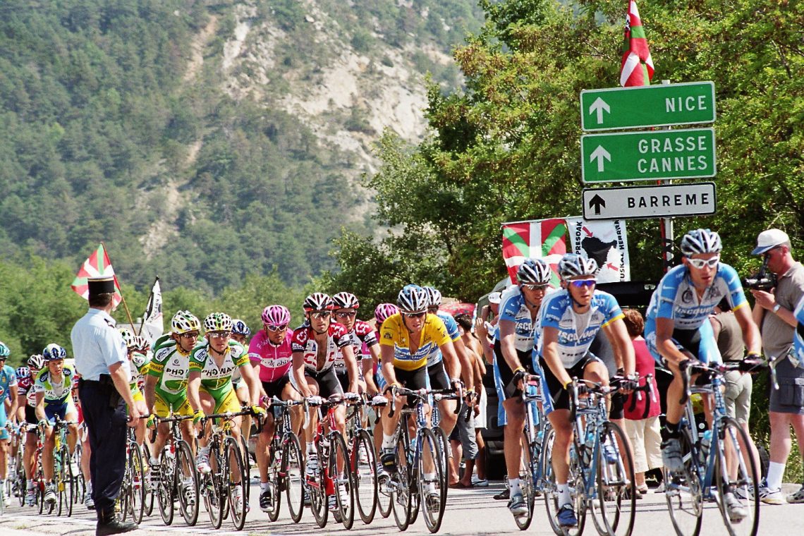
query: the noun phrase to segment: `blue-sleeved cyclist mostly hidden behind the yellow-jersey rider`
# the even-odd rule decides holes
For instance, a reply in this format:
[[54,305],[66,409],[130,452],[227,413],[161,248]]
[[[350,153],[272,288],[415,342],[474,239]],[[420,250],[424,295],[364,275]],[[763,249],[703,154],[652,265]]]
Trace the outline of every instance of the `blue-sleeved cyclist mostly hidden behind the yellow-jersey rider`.
[[[458,361],[461,363],[460,370],[466,386],[467,404],[472,406],[474,405],[474,368],[468,354],[466,354],[466,346],[464,346],[463,339],[461,339],[460,330],[457,329],[457,322],[451,314],[438,310],[441,307],[441,292],[437,288],[422,288],[427,293],[427,313],[441,318],[447,329],[447,334],[449,334],[449,338],[453,342],[455,354],[457,354]],[[427,375],[432,389],[449,389],[451,383],[457,383],[455,380],[460,379],[450,378],[447,375],[441,350],[430,354],[427,358]],[[452,433],[455,423],[457,423],[456,405],[457,400],[441,400],[438,403],[438,410],[441,415],[438,427],[445,432],[447,437]]]

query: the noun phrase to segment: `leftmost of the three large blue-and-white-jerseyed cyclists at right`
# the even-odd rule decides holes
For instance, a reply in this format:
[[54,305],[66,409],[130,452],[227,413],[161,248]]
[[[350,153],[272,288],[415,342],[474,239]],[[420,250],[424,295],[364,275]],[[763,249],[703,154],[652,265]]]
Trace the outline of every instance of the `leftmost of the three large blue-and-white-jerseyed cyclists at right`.
[[541,259],[525,259],[516,272],[517,285],[508,290],[500,305],[499,321],[494,328],[494,385],[503,404],[507,423],[503,428],[503,452],[511,498],[508,509],[514,516],[527,513],[527,505],[519,488],[519,465],[522,459],[522,429],[525,410],[519,383],[525,374],[534,374],[532,358],[535,325],[539,308],[550,290],[552,270]]

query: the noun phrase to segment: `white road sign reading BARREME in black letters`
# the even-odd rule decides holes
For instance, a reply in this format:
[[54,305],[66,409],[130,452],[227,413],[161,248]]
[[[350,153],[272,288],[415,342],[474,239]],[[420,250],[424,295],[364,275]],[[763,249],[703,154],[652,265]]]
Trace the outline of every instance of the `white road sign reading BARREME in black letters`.
[[714,182],[587,188],[584,219],[639,219],[715,214]]

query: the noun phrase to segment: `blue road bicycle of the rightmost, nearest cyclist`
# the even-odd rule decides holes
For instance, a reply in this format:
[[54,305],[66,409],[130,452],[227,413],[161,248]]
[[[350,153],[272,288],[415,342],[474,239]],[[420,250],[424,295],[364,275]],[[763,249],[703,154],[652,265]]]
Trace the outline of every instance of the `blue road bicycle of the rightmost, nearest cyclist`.
[[[757,534],[760,515],[757,466],[745,429],[726,415],[722,387],[724,374],[729,370],[749,372],[764,365],[765,362],[746,359],[708,365],[692,362],[682,367],[684,395],[681,403],[686,404],[679,424],[683,467],[678,471],[664,469],[667,510],[679,536],[700,533],[705,501],[716,502],[728,534]],[[773,384],[777,385],[773,366],[770,370]],[[690,385],[695,375],[698,379]],[[713,401],[711,432],[699,434],[695,426],[690,399],[695,393]],[[745,518],[732,520],[727,504],[732,497],[727,497],[728,493],[740,501]]]

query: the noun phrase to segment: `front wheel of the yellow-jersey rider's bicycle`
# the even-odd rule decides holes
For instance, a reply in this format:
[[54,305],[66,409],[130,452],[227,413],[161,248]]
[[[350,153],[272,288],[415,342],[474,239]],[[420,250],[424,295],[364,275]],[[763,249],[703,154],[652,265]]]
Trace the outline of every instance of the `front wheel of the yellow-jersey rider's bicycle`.
[[[444,519],[444,509],[447,500],[447,476],[444,472],[444,460],[441,459],[441,445],[438,433],[429,428],[421,428],[421,450],[418,458],[418,489],[421,515],[425,518],[425,525],[431,533],[438,532],[441,521]],[[432,456],[433,471],[427,471],[425,458]]]

